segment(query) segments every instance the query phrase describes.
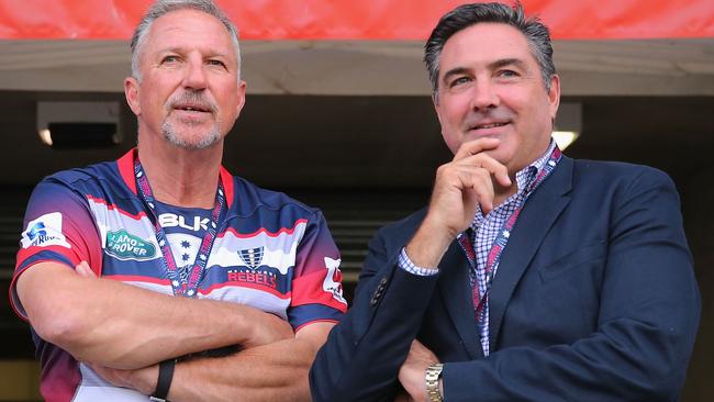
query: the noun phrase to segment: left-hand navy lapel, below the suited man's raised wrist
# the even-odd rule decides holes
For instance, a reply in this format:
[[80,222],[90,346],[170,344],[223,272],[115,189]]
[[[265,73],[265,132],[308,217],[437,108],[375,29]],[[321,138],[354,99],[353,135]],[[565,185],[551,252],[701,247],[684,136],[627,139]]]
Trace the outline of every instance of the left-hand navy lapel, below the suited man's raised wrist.
[[483,357],[483,350],[476,326],[469,269],[469,261],[464,255],[464,250],[458,242],[453,242],[439,264],[442,271],[438,280],[440,295],[459,337],[469,353],[469,358],[477,359]]

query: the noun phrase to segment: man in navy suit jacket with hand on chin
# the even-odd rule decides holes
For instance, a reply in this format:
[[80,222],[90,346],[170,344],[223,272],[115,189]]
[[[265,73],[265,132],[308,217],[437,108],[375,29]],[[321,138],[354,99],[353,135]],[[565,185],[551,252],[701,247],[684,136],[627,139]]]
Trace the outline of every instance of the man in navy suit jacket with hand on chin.
[[520,4],[442,18],[425,62],[455,156],[370,242],[315,401],[678,399],[700,298],[677,191],[560,153],[551,57]]

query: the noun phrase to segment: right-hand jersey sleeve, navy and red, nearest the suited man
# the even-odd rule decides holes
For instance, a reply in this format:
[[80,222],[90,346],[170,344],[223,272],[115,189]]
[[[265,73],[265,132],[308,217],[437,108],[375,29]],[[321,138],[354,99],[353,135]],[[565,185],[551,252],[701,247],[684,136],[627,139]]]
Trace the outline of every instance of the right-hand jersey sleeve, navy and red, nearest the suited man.
[[347,311],[339,252],[322,213],[308,221],[295,257],[288,320],[295,331],[316,321],[338,322]]

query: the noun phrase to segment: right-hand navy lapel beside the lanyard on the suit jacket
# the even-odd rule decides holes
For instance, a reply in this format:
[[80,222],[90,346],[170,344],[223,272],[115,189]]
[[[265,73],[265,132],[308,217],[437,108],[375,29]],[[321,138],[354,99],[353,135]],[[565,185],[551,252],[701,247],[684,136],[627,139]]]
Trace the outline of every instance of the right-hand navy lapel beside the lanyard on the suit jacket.
[[566,196],[572,187],[572,159],[564,156],[560,163],[526,201],[518,221],[503,250],[489,292],[489,340],[495,350],[503,314],[509,299],[526,267],[548,234],[550,226],[570,202]]

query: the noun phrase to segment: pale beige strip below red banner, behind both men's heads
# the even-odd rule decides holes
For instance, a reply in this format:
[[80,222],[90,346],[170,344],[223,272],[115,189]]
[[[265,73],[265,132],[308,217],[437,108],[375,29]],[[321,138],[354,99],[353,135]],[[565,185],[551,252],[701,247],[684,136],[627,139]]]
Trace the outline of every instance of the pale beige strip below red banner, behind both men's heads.
[[[421,42],[244,41],[256,94],[428,93]],[[556,41],[564,96],[714,96],[714,38]],[[0,41],[0,90],[121,92],[123,41]]]

